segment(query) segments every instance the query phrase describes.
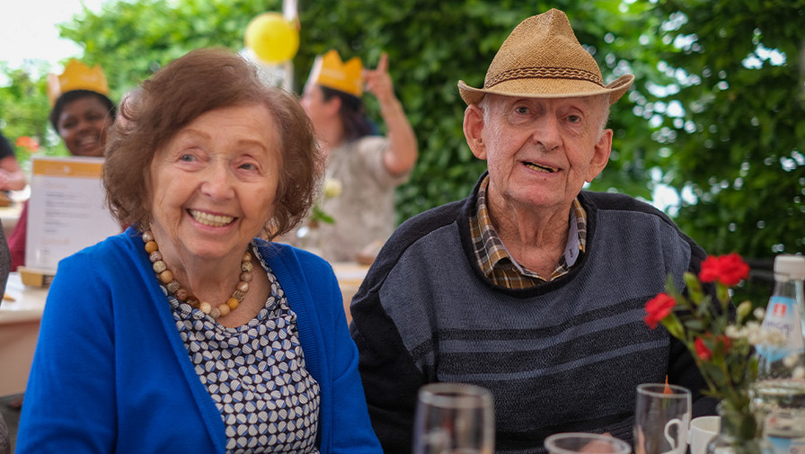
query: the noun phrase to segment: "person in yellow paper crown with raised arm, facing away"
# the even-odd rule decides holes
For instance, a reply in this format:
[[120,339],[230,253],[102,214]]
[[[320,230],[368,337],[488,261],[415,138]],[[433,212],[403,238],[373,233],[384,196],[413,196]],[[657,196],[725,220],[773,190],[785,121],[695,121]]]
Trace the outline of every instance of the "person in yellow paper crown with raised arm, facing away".
[[[380,104],[385,138],[365,116],[364,86]],[[325,259],[355,261],[394,231],[394,188],[407,181],[418,156],[413,129],[394,95],[388,57],[383,54],[369,70],[357,57],[342,63],[337,51],[328,51],[316,58],[300,102],[327,162],[325,185],[340,188],[336,196],[325,194],[321,205],[333,222],[317,223],[314,235]]]

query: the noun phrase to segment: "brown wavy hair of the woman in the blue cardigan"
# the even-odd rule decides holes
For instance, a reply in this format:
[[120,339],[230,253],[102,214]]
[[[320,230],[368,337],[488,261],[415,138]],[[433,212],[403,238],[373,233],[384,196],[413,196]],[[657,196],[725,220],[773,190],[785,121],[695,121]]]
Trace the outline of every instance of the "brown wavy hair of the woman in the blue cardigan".
[[161,147],[203,113],[244,104],[268,107],[279,129],[281,171],[267,236],[282,235],[305,218],[323,172],[305,111],[290,93],[265,85],[257,68],[233,51],[196,49],[158,70],[121,103],[103,164],[106,200],[120,224],[150,223],[150,165]]

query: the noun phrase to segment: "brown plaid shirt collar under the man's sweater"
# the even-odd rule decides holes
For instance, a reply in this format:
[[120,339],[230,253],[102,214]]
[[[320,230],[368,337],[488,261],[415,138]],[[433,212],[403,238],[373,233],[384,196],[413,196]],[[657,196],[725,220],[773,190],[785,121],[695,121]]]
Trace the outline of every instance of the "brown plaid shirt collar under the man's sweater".
[[[569,235],[568,247],[559,259],[553,273],[544,278],[520,266],[509,255],[506,246],[492,226],[489,209],[486,203],[486,191],[489,186],[489,176],[481,182],[478,189],[478,200],[475,208],[476,214],[470,218],[470,233],[473,236],[473,249],[478,266],[483,274],[495,285],[507,289],[527,289],[554,280],[567,272],[580,254],[584,253],[587,242],[587,213],[581,207],[579,199],[573,200],[571,207],[571,223],[575,220],[575,229],[571,224],[571,234],[575,230],[576,238]],[[570,264],[569,264],[570,263]]]

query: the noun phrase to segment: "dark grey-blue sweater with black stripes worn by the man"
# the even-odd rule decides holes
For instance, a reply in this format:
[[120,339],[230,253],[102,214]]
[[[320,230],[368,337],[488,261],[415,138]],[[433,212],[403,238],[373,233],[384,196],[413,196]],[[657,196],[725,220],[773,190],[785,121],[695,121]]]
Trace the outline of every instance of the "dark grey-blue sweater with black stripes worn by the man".
[[386,454],[411,452],[416,392],[434,381],[491,389],[502,453],[543,452],[556,432],[632,441],[635,388],[666,374],[694,391],[695,414],[713,413],[684,345],[643,322],[668,273],[681,286],[704,258],[666,215],[584,191],[588,248],[579,263],[558,280],[511,290],[491,285],[475,263],[474,196],[399,227],[352,300],[358,368]]

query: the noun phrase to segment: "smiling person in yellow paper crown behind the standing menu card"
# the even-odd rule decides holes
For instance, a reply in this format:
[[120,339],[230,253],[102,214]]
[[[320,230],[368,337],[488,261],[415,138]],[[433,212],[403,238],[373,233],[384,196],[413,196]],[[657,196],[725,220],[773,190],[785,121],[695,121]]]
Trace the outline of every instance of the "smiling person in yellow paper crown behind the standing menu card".
[[[50,124],[73,156],[103,156],[106,130],[114,122],[116,109],[107,96],[101,67],[86,67],[70,60],[61,76],[48,76],[48,95],[53,108]],[[28,228],[28,202],[22,205],[20,219],[8,236],[12,271],[25,264],[25,236]]]

